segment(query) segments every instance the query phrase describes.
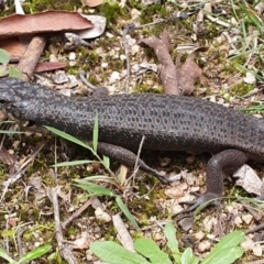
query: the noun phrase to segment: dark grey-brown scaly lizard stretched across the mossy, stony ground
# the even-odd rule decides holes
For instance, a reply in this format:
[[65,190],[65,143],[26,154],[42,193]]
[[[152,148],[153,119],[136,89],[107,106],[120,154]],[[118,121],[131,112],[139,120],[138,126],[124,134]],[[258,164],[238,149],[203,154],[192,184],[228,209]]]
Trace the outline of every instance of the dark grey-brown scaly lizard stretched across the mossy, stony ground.
[[[221,197],[223,172],[233,172],[248,160],[264,162],[262,119],[196,98],[152,94],[69,98],[44,86],[4,78],[0,107],[18,119],[85,141],[91,140],[98,112],[98,151],[130,167],[135,155],[129,150],[136,150],[143,135],[145,150],[216,154],[207,166],[207,191],[187,211]],[[143,161],[139,165],[163,183],[170,182]]]

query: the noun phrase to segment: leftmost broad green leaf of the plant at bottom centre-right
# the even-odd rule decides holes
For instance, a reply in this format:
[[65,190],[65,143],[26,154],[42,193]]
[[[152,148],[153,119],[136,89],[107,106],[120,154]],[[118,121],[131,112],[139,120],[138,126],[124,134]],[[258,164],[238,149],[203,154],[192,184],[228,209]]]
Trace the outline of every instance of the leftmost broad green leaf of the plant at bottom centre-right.
[[90,250],[109,264],[151,264],[143,256],[128,251],[112,241],[91,243]]

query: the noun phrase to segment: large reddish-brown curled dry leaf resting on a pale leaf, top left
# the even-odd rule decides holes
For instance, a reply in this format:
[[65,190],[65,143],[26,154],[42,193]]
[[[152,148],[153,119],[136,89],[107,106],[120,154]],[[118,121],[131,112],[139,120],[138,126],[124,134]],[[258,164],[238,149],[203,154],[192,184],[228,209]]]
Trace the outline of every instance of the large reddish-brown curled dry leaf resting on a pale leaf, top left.
[[0,20],[0,38],[32,33],[79,31],[94,24],[77,12],[46,11],[35,14],[12,14]]

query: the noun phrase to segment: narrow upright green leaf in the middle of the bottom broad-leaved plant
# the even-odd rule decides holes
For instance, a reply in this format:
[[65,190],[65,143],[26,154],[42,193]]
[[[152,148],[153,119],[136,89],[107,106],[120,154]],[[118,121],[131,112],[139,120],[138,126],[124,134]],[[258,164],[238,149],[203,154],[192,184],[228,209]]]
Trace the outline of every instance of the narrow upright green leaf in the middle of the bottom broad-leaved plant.
[[176,239],[176,229],[172,223],[167,223],[164,228],[164,234],[167,239],[167,246],[172,251],[172,255],[176,263],[180,262],[180,253],[178,250],[178,241]]

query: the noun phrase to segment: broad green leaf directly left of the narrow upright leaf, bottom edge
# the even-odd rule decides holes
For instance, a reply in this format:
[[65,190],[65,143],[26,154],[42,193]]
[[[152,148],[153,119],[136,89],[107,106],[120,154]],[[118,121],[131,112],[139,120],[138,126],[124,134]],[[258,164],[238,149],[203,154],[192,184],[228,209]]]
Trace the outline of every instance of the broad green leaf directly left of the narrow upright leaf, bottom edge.
[[151,260],[153,264],[172,264],[172,261],[164,251],[151,239],[138,239],[134,242],[135,250],[143,256]]

